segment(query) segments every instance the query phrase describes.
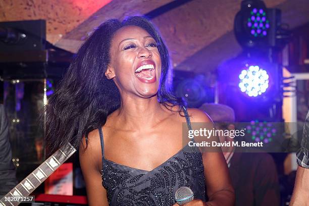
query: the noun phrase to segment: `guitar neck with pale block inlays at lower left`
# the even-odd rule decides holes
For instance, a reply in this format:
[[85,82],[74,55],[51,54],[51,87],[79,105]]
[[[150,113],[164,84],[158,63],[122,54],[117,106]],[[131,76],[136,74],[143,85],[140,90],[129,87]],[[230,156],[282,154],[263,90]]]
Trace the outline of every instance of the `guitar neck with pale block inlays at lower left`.
[[8,194],[0,200],[0,206],[15,206],[19,201],[8,201],[12,197],[26,197],[30,195],[42,182],[44,182],[57,168],[66,162],[76,149],[68,143],[64,147],[58,149],[52,156],[36,168],[30,175],[14,187]]

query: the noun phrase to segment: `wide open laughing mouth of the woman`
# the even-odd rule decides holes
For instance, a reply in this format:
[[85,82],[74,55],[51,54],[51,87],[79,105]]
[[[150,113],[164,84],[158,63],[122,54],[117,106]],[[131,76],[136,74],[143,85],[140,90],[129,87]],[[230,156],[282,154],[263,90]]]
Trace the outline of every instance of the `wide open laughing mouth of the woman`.
[[146,64],[135,70],[135,76],[144,83],[152,83],[156,81],[156,70],[153,64]]

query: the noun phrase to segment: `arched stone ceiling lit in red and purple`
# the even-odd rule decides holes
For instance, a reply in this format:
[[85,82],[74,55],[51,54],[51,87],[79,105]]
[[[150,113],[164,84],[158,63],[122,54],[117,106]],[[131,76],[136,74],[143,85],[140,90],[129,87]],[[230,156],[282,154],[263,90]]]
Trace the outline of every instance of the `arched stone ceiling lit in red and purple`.
[[[233,34],[233,22],[241,0],[178,1],[178,6],[152,19],[179,70],[209,72],[241,52]],[[265,0],[268,8],[282,10],[282,22],[290,28],[309,22],[308,0]],[[50,0],[0,3],[0,21],[46,19],[47,40],[76,52],[94,28],[110,18],[143,15],[175,3],[172,0]]]

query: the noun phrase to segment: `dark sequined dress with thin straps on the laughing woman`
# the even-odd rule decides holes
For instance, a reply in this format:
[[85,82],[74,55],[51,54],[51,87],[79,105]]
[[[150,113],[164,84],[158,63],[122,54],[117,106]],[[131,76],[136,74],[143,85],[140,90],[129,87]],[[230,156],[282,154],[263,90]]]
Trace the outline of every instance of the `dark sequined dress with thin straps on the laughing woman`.
[[[183,110],[191,129],[188,113],[184,107]],[[101,128],[99,134],[103,157],[102,185],[107,190],[110,205],[173,205],[175,192],[181,186],[191,188],[194,198],[205,201],[204,168],[197,147],[186,145],[157,168],[145,171],[105,159]]]

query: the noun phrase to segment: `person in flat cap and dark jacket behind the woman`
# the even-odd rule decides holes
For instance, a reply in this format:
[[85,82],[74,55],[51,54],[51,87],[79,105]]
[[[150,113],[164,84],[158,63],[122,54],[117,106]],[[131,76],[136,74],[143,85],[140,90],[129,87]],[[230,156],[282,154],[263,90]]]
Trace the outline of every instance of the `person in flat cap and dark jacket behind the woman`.
[[[199,109],[211,117],[216,129],[235,129],[232,108],[220,104],[203,104]],[[219,137],[220,142],[233,141],[228,136]],[[279,182],[272,156],[268,153],[242,153],[237,148],[233,148],[232,144],[231,147],[222,147],[235,189],[235,205],[279,205]]]

